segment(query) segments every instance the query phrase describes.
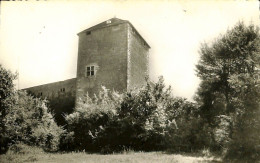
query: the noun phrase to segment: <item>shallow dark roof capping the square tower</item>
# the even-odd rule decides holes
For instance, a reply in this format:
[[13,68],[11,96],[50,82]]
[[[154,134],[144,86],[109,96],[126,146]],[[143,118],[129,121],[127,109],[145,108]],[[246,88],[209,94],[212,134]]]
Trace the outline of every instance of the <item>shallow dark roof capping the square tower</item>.
[[118,25],[118,24],[123,24],[123,23],[128,23],[136,32],[136,34],[144,41],[144,43],[149,47],[149,44],[145,41],[145,39],[138,33],[138,31],[135,29],[135,27],[128,21],[128,20],[122,20],[122,19],[118,19],[118,18],[111,18],[111,19],[108,19],[102,23],[99,23],[93,27],[90,27],[88,29],[85,29],[81,32],[78,33],[81,34],[81,33],[85,33],[87,31],[93,31],[93,30],[96,30],[96,29],[100,29],[100,28],[105,28],[105,27],[109,27],[109,26],[114,26],[114,25]]

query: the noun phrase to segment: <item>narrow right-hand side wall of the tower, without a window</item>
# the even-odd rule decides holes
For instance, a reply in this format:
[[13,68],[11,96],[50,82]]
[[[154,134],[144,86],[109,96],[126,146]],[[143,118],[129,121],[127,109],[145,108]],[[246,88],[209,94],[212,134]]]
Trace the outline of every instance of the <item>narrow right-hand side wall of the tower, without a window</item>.
[[128,39],[128,90],[131,90],[143,86],[149,75],[149,47],[130,25]]

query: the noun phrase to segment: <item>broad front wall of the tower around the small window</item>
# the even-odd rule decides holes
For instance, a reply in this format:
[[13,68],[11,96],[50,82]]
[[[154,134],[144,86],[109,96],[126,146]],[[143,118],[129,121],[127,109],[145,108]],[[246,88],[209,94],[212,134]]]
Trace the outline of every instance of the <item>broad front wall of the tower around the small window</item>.
[[[95,76],[86,77],[86,66],[96,67]],[[127,24],[117,24],[79,34],[76,99],[98,94],[101,85],[126,91]]]

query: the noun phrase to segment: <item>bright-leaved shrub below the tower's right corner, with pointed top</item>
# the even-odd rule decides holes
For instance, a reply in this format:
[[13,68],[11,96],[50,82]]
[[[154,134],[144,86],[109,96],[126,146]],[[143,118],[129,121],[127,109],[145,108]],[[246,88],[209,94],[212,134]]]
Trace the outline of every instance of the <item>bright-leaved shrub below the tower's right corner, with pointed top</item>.
[[163,78],[155,84],[126,93],[118,108],[120,140],[133,150],[164,149],[167,100],[171,89],[165,88]]

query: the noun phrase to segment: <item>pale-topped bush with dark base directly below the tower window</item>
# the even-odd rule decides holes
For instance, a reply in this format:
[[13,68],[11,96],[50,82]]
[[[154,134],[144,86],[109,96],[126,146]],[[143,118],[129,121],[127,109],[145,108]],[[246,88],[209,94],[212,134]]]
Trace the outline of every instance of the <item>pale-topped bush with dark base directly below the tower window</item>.
[[114,129],[117,129],[116,108],[121,95],[102,88],[99,96],[82,99],[74,112],[66,116],[68,134],[63,139],[65,149],[97,152],[102,148],[109,149],[113,144],[116,139]]

